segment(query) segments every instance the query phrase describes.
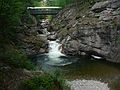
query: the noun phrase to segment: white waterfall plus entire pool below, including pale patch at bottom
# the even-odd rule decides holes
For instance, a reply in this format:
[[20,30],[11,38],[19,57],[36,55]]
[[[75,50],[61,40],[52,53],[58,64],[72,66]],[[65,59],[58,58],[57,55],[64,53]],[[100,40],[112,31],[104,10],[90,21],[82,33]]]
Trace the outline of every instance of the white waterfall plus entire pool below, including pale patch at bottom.
[[60,52],[60,46],[57,41],[49,41],[49,53],[37,56],[40,69],[48,73],[61,72],[72,90],[120,90],[119,64],[66,56]]

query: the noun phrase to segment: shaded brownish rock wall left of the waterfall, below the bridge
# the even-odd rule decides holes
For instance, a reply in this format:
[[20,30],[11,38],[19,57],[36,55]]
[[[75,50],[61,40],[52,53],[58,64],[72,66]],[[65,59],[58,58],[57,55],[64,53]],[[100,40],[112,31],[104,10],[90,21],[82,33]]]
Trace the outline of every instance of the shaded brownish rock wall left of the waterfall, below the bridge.
[[32,24],[27,24],[27,20],[22,20],[21,26],[18,27],[17,46],[30,56],[48,52],[47,36],[40,35],[43,32],[36,19],[32,18]]

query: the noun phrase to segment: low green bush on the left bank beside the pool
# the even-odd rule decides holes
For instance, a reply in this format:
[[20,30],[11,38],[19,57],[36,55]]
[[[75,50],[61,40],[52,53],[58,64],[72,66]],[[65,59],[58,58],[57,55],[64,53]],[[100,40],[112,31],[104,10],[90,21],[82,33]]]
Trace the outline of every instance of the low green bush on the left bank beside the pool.
[[16,68],[26,68],[28,70],[34,69],[34,65],[28,59],[25,53],[17,49],[7,49],[6,51],[0,53],[0,57],[3,62],[9,64],[10,66]]

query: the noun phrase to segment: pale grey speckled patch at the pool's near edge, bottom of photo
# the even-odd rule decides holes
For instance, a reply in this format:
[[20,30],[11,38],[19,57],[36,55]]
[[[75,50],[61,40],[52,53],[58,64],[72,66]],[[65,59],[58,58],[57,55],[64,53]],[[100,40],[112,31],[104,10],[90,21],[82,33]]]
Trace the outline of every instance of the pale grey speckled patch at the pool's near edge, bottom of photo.
[[110,90],[107,83],[95,80],[67,81],[71,90]]

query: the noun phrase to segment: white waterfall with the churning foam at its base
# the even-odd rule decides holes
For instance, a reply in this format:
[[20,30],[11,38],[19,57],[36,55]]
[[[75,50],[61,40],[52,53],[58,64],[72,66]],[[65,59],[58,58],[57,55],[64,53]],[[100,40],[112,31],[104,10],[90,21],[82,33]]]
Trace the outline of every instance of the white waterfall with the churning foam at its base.
[[49,53],[47,64],[54,66],[64,66],[71,64],[72,62],[68,60],[67,56],[61,53],[61,44],[57,43],[57,41],[49,41]]

